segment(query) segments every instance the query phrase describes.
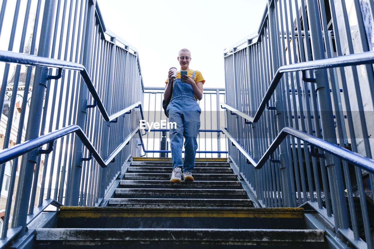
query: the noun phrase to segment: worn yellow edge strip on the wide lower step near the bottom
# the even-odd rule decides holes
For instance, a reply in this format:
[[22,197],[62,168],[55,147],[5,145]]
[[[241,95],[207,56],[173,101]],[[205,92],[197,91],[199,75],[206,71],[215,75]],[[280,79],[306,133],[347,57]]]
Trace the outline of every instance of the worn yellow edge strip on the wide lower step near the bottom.
[[248,208],[233,210],[182,210],[182,209],[146,209],[111,208],[76,209],[61,207],[58,218],[115,218],[115,217],[230,217],[230,218],[303,218],[304,209]]

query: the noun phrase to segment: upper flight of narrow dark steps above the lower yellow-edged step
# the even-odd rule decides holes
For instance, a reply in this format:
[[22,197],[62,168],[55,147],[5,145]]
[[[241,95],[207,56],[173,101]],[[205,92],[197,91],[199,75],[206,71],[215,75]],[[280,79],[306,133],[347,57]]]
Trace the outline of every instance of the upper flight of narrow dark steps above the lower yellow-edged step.
[[[162,159],[161,159],[162,160]],[[195,181],[170,184],[171,162],[133,161],[108,206],[251,207],[229,163],[196,162]]]

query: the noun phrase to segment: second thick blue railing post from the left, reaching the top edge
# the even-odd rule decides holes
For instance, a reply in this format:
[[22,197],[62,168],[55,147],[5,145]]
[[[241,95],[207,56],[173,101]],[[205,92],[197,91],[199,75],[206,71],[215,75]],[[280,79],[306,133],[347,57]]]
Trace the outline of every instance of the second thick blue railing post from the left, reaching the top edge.
[[[88,1],[87,8],[87,20],[85,30],[85,42],[83,47],[83,61],[82,64],[89,72],[90,61],[91,61],[91,49],[92,49],[92,34],[94,29],[94,18],[95,18],[95,4],[96,1]],[[78,97],[78,113],[77,113],[77,125],[82,130],[85,129],[86,116],[87,116],[87,93],[88,89],[83,80],[80,81],[79,86],[79,97]],[[83,156],[83,143],[80,139],[75,139],[74,152],[73,152],[73,165],[71,165],[71,174],[69,186],[66,191],[66,205],[77,206],[79,200],[80,191],[80,178],[82,175],[82,156]]]

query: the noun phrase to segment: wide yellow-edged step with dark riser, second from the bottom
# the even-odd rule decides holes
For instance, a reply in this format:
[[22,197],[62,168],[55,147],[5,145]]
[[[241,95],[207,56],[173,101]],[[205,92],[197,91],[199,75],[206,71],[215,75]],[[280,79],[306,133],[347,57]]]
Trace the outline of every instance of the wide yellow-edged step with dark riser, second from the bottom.
[[57,228],[304,229],[302,208],[62,206]]

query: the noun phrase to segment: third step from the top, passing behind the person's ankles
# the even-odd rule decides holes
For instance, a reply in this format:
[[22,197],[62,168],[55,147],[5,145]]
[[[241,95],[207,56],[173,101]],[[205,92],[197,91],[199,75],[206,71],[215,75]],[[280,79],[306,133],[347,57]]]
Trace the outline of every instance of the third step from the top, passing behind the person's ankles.
[[[133,167],[130,166],[127,169],[127,172],[129,173],[171,173],[173,170],[172,167]],[[193,169],[193,173],[213,173],[213,174],[219,174],[219,173],[226,173],[230,174],[233,173],[232,168],[229,167],[195,167]]]

